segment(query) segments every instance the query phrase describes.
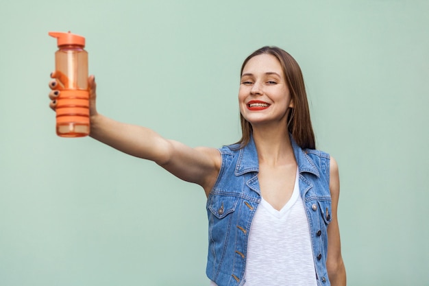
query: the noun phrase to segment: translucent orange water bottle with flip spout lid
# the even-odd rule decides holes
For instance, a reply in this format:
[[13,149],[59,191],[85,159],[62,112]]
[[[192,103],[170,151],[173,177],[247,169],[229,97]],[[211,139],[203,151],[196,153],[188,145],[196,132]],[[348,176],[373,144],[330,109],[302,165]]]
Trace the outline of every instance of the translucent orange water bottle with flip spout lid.
[[55,78],[60,90],[56,104],[56,131],[62,137],[89,134],[88,52],[85,38],[71,32],[49,32],[58,39]]

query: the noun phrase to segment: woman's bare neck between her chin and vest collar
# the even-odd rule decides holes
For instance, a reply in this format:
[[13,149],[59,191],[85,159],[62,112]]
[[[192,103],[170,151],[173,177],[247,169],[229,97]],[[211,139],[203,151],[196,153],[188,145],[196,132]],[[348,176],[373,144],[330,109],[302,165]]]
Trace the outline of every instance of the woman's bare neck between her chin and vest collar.
[[286,128],[253,127],[253,137],[260,164],[271,166],[295,164],[295,154]]

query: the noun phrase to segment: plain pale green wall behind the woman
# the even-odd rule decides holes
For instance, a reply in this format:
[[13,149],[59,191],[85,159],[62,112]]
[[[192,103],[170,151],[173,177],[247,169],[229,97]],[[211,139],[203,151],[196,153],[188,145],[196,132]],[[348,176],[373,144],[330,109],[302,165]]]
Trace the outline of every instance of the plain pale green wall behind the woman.
[[339,162],[349,285],[429,285],[429,1],[0,3],[0,286],[208,285],[205,196],[154,163],[62,139],[56,40],[86,36],[98,108],[191,146],[238,140],[262,45],[302,67]]

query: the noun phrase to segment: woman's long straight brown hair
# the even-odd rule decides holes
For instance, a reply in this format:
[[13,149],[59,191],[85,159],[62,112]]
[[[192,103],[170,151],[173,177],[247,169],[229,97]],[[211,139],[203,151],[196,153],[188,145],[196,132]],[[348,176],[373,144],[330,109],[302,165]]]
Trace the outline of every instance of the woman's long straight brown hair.
[[[284,78],[286,79],[286,84],[289,87],[289,92],[291,93],[293,100],[293,108],[289,110],[287,118],[287,128],[289,132],[292,134],[295,142],[302,149],[316,149],[315,134],[312,130],[310,120],[310,110],[308,109],[304,78],[302,77],[302,72],[298,63],[289,53],[279,47],[262,47],[254,51],[244,60],[243,65],[241,66],[240,75],[243,74],[243,69],[251,58],[263,53],[275,56],[282,65]],[[240,120],[242,136],[238,143],[241,147],[244,147],[249,143],[253,129],[249,121],[247,121],[241,114]]]

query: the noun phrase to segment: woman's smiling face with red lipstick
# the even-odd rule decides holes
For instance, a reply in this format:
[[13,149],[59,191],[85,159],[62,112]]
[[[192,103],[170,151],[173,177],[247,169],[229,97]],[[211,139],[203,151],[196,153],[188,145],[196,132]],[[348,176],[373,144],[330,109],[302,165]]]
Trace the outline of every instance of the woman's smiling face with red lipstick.
[[241,115],[252,126],[286,124],[286,110],[293,107],[293,102],[275,56],[262,53],[247,62],[241,75],[238,102]]

